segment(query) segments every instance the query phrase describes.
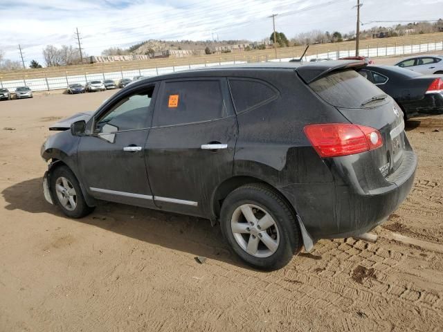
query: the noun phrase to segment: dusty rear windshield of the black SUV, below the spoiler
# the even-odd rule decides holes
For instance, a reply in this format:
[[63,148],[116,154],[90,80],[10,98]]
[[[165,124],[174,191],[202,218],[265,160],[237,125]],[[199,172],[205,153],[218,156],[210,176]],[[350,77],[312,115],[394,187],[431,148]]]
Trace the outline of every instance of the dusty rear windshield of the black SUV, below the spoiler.
[[377,86],[352,69],[334,72],[309,86],[325,102],[344,108],[360,108],[366,100],[383,94]]

